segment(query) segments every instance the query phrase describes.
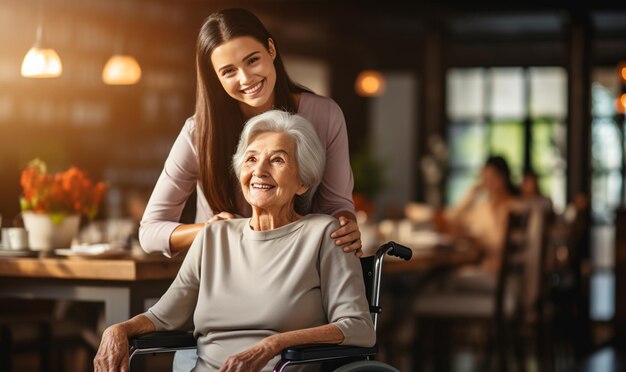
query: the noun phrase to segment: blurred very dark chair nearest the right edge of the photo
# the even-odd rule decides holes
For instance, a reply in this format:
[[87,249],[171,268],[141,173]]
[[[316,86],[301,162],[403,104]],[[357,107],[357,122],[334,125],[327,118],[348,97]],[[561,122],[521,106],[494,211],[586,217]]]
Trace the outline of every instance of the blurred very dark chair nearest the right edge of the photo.
[[588,313],[588,205],[572,202],[553,216],[536,344],[542,371],[574,368],[591,350]]

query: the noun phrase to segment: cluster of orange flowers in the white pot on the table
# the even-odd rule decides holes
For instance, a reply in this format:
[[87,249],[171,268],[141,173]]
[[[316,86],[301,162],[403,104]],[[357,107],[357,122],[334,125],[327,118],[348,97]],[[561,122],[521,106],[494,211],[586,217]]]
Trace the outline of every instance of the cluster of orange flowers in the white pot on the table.
[[20,205],[23,211],[57,215],[79,213],[93,218],[106,185],[94,184],[80,168],[70,167],[65,172],[48,174],[46,164],[34,159],[20,175],[22,197]]

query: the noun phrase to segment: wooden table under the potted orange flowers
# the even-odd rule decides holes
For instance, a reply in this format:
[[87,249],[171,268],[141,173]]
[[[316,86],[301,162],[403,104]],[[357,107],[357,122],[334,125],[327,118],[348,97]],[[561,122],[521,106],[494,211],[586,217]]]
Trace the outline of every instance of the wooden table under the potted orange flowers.
[[116,259],[0,257],[0,297],[104,303],[111,325],[146,309],[176,276],[182,257],[136,255]]

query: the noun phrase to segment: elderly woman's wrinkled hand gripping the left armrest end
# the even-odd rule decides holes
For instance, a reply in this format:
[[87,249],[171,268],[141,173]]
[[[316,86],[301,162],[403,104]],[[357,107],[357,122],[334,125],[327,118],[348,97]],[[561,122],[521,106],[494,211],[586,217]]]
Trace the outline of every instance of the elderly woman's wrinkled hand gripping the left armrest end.
[[128,335],[123,327],[113,325],[104,330],[98,353],[93,360],[95,372],[128,371]]

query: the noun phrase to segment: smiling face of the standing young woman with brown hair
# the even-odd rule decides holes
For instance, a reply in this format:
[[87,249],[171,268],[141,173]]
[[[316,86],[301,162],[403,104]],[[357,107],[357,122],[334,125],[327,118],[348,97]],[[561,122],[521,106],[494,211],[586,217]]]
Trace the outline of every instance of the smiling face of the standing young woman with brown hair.
[[274,104],[275,57],[272,39],[265,49],[250,36],[236,37],[213,50],[211,63],[215,73],[226,93],[241,102],[244,114],[256,115]]

